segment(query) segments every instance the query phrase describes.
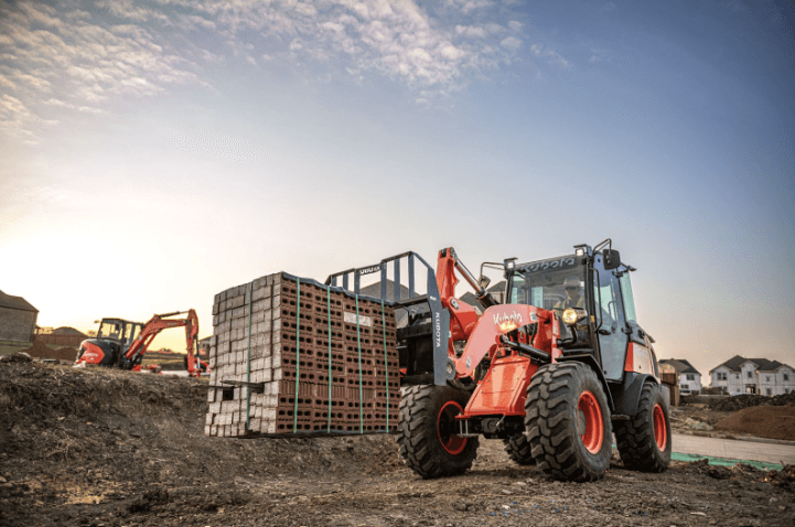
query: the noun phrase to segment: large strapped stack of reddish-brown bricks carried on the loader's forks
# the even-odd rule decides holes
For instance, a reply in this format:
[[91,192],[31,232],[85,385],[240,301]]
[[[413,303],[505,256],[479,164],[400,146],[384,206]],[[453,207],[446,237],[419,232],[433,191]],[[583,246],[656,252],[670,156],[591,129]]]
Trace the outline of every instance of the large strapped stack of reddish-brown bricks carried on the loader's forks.
[[205,434],[395,431],[395,331],[389,302],[284,272],[216,294]]

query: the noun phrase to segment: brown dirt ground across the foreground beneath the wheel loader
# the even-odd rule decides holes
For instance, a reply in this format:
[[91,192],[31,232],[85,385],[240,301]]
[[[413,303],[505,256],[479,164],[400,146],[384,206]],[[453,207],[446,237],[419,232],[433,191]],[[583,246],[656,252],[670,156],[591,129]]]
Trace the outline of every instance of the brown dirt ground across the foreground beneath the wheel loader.
[[482,441],[471,472],[422,481],[389,435],[205,438],[205,383],[0,363],[0,525],[795,525],[795,467],[560,483]]

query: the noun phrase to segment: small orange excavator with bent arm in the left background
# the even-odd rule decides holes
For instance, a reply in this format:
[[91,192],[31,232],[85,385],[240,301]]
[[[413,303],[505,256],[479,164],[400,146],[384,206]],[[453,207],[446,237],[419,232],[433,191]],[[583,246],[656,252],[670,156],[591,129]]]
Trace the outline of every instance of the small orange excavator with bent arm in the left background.
[[[184,319],[170,319],[187,313]],[[122,319],[103,319],[95,338],[80,343],[75,365],[96,364],[121,369],[141,370],[141,362],[149,345],[163,330],[185,327],[186,366],[191,377],[198,377],[210,370],[198,353],[198,316],[194,310],[155,314],[142,324]]]

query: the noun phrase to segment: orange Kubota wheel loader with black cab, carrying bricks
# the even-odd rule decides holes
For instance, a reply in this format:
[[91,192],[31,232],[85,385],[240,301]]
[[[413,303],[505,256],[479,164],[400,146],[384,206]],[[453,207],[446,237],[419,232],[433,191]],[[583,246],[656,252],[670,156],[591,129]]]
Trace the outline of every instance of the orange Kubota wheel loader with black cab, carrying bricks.
[[[610,239],[573,254],[497,265],[505,303],[475,279],[452,248],[436,273],[415,252],[350,269],[382,272],[394,264],[388,300],[408,312],[398,327],[404,389],[397,440],[405,463],[423,478],[461,474],[472,466],[479,438],[502,439],[509,458],[576,482],[601,478],[615,433],[624,465],[663,472],[670,461],[668,398],[659,380],[654,340],[638,324],[630,283]],[[408,298],[401,299],[400,259],[408,259]],[[415,260],[428,271],[427,294],[413,293]],[[455,298],[456,271],[483,308]]]

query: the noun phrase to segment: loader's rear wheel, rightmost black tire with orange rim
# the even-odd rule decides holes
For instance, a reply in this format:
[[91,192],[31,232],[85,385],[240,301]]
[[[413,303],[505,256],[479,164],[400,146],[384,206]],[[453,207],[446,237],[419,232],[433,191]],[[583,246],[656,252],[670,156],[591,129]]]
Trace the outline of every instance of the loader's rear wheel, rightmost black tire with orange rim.
[[670,464],[670,419],[663,389],[646,383],[641,390],[637,413],[629,421],[616,421],[615,440],[626,469],[665,472]]

